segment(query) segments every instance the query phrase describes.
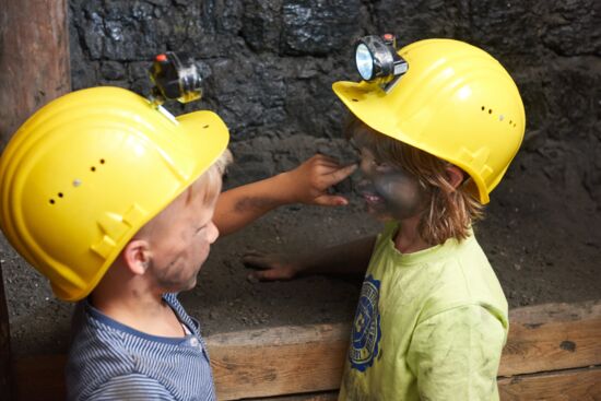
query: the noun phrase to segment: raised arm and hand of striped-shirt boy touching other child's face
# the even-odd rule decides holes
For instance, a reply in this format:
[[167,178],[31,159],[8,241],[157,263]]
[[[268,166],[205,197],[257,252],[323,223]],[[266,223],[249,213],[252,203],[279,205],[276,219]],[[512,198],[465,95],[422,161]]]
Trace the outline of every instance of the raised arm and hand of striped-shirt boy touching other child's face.
[[290,203],[345,205],[347,200],[328,188],[349,177],[356,165],[340,166],[317,154],[295,169],[223,192],[213,221],[222,235],[232,234],[267,212]]

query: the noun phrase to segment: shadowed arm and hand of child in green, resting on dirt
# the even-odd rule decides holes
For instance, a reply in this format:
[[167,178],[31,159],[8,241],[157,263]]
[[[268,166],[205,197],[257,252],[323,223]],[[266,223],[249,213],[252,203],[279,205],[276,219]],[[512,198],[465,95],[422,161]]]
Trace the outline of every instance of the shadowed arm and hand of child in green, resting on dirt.
[[309,274],[364,274],[376,236],[356,239],[310,253],[249,252],[243,262],[256,271],[248,275],[251,281],[290,280]]

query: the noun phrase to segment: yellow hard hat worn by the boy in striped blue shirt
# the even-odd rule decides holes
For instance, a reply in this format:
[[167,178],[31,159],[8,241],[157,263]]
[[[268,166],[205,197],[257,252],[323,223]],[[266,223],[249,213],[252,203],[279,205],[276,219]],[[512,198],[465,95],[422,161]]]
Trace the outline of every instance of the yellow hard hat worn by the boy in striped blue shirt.
[[118,87],[70,93],[35,113],[0,157],[0,227],[57,297],[81,299],[228,140],[211,111],[174,118]]

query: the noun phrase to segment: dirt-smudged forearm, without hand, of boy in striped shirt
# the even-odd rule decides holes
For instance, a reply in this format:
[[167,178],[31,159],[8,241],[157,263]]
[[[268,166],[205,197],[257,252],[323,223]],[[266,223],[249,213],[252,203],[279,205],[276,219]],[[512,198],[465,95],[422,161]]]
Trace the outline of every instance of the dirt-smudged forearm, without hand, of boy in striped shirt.
[[233,234],[267,212],[293,203],[288,186],[284,173],[223,192],[213,217],[221,235]]

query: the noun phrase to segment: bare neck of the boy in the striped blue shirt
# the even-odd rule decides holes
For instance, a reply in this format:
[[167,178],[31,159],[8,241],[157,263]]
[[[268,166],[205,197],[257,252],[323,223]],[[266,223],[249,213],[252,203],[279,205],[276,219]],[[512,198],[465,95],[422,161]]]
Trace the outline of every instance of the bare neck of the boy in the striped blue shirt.
[[138,331],[158,337],[182,337],[184,329],[161,292],[148,278],[111,267],[90,297],[92,305],[109,318]]

